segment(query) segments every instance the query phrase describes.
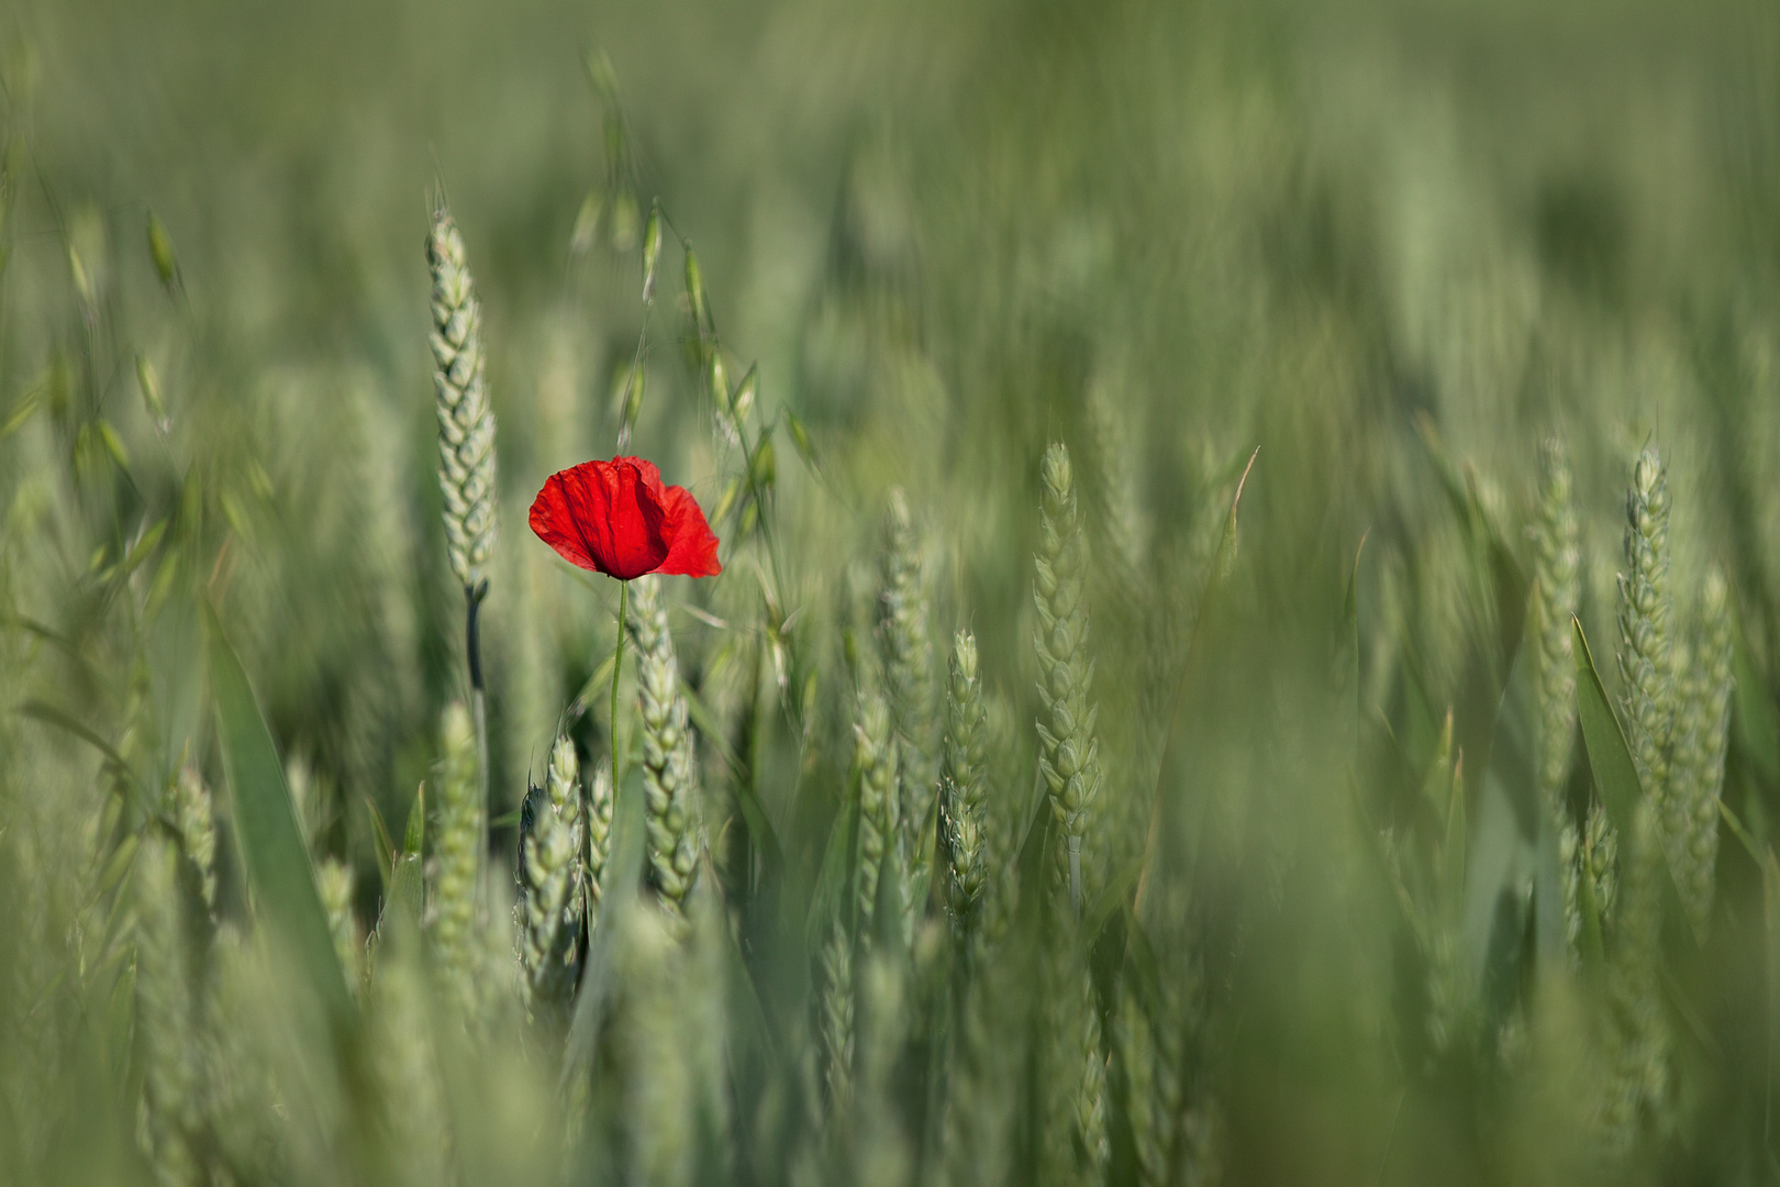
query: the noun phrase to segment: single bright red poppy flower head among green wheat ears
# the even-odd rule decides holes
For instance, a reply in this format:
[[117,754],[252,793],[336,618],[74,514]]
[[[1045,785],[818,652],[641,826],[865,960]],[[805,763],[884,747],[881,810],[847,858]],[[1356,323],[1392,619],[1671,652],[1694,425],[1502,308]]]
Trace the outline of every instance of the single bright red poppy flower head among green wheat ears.
[[584,461],[552,473],[532,500],[532,530],[570,564],[621,582],[644,573],[716,577],[717,537],[684,486],[653,461]]

